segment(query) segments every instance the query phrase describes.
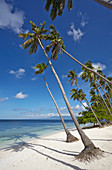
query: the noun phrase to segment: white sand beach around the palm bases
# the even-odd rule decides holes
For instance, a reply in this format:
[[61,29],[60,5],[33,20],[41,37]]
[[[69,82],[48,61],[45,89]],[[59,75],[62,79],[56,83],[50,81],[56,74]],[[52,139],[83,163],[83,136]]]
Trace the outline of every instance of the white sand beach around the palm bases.
[[[66,143],[64,132],[0,151],[0,170],[112,170],[112,126],[84,129],[104,157],[91,163],[75,160],[84,148],[81,140]],[[78,137],[76,130],[71,133]]]

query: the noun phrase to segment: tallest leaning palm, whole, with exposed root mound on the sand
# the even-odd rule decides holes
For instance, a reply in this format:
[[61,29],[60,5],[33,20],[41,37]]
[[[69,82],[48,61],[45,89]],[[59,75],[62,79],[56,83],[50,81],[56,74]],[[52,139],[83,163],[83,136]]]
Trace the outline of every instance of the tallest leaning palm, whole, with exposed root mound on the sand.
[[[60,90],[62,92],[62,95],[63,95],[63,98],[65,100],[65,103],[66,103],[66,106],[68,108],[68,111],[73,119],[73,122],[81,136],[81,140],[85,146],[84,150],[78,155],[77,159],[79,159],[80,161],[87,161],[87,160],[91,160],[91,159],[94,159],[96,156],[101,156],[102,155],[102,151],[99,149],[99,148],[96,148],[95,145],[93,144],[93,142],[87,137],[87,135],[84,133],[84,131],[82,130],[82,128],[80,127],[73,111],[72,111],[72,108],[68,102],[68,99],[67,99],[67,96],[65,94],[65,91],[64,91],[64,88],[60,82],[60,79],[46,53],[46,50],[44,49],[44,46],[42,44],[42,40],[44,40],[46,38],[46,35],[44,33],[46,33],[47,31],[44,29],[44,26],[45,24],[41,24],[42,27],[39,29],[38,26],[36,26],[32,21],[30,22],[31,25],[32,25],[32,31],[33,33],[22,33],[22,34],[19,34],[20,37],[23,37],[24,40],[27,40],[23,43],[23,48],[28,48],[29,47],[29,51],[31,51],[32,53],[35,52],[33,49],[35,49],[33,46],[36,46],[36,49],[37,49],[37,44],[40,45],[40,47],[42,48],[47,60],[48,60],[48,63],[52,69],[52,72],[58,82],[58,85],[60,87]],[[32,40],[32,42],[31,42]],[[91,154],[90,154],[91,152]]]

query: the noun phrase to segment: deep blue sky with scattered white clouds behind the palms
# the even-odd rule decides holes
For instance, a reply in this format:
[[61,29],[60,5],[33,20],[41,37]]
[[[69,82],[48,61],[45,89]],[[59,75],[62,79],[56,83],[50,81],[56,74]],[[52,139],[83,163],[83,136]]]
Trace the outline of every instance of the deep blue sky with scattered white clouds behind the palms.
[[[37,119],[56,116],[54,104],[46,90],[42,75],[34,76],[33,66],[47,62],[39,47],[28,55],[18,34],[30,30],[30,20],[46,28],[54,24],[63,37],[66,51],[82,63],[91,60],[104,74],[112,76],[112,12],[94,1],[78,0],[72,11],[65,8],[61,17],[51,21],[44,10],[45,2],[33,0],[0,0],[0,118]],[[80,74],[81,67],[66,54],[52,61],[75,114],[83,108],[70,100],[70,83],[66,75],[71,69]],[[62,115],[68,115],[58,84],[48,67],[46,80]],[[78,78],[88,96],[88,85]]]

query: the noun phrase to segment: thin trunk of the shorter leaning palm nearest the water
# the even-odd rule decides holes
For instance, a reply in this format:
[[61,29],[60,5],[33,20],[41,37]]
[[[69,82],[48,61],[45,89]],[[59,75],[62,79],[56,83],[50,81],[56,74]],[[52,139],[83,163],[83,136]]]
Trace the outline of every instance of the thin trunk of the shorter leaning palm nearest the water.
[[58,108],[58,105],[57,105],[57,103],[56,103],[56,101],[55,101],[55,99],[54,99],[54,97],[53,97],[53,95],[52,95],[52,93],[51,93],[51,91],[50,91],[50,89],[49,89],[49,87],[48,87],[48,84],[47,84],[47,82],[46,82],[44,72],[43,72],[43,78],[44,78],[44,82],[45,82],[45,84],[46,84],[47,90],[48,90],[48,92],[49,92],[49,94],[50,94],[50,96],[51,96],[51,98],[52,98],[52,100],[53,100],[53,102],[54,102],[54,104],[55,104],[55,106],[56,106],[57,112],[58,112],[58,114],[59,114],[59,116],[60,116],[60,119],[61,119],[61,121],[62,121],[63,127],[64,127],[64,129],[65,129],[65,132],[66,132],[66,135],[67,135],[67,140],[66,140],[66,142],[77,141],[78,139],[77,139],[76,137],[74,137],[74,136],[69,132],[69,130],[67,129],[67,127],[66,127],[66,125],[65,125],[65,122],[64,122],[64,120],[63,120],[63,118],[62,118],[62,116],[61,116],[61,113],[60,113],[60,110],[59,110],[59,108]]

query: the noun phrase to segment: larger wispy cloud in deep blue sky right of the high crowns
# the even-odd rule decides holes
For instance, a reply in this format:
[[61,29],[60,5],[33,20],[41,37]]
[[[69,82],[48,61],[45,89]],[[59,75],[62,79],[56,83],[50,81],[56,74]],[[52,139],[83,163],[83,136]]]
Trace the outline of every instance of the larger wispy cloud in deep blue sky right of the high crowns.
[[73,39],[77,42],[79,40],[81,40],[81,38],[84,36],[84,33],[81,31],[80,28],[76,29],[74,26],[74,23],[71,24],[70,29],[67,34],[69,36],[72,36]]

